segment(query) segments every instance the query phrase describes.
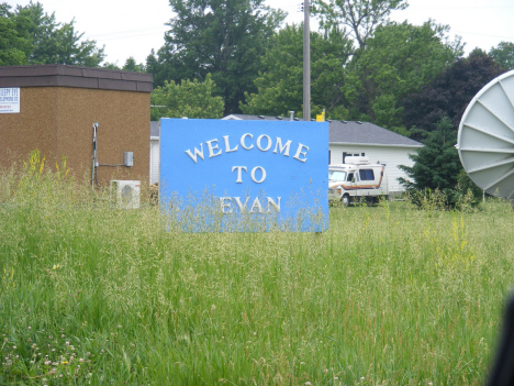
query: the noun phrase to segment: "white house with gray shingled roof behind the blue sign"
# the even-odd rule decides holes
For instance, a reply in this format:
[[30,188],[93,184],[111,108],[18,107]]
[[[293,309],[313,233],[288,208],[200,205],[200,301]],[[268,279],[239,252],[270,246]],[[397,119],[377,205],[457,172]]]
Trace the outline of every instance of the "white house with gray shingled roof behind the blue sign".
[[[298,120],[286,117],[265,117],[231,114],[223,120]],[[366,156],[372,163],[386,164],[388,169],[389,191],[402,191],[398,178],[407,178],[399,165],[412,166],[409,157],[415,154],[423,144],[380,128],[369,122],[328,121],[328,155],[327,164],[343,164],[348,156]]]

